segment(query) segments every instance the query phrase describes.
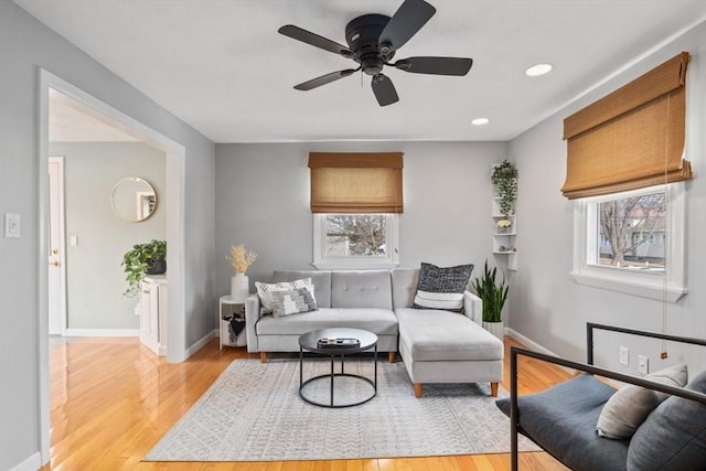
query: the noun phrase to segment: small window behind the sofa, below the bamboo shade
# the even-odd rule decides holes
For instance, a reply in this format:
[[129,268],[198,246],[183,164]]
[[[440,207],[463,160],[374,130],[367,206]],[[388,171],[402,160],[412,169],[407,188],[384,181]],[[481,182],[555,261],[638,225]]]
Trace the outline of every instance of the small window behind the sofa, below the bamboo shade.
[[320,269],[398,264],[396,214],[314,214],[313,265]]

